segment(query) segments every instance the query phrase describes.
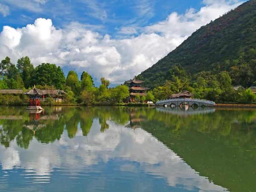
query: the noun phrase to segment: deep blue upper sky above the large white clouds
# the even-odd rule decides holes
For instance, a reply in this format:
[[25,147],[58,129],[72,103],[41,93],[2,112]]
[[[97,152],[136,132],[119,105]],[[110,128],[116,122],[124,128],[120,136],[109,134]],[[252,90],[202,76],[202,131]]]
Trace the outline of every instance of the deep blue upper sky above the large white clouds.
[[[165,20],[172,12],[200,9],[201,0],[2,0],[9,7],[0,27],[23,27],[37,18],[50,18],[56,27],[71,21],[91,25],[91,29],[117,35],[126,26],[143,27]],[[28,3],[27,3],[27,2]],[[21,3],[19,3],[21,2]],[[139,2],[139,3],[138,3]]]

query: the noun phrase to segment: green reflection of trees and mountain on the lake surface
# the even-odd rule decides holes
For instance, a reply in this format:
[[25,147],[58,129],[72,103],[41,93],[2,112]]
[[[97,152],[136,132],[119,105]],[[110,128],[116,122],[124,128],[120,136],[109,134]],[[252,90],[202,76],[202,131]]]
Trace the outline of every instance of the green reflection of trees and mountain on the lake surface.
[[256,111],[252,109],[62,107],[29,113],[9,107],[0,109],[0,144],[8,148],[16,140],[27,149],[33,138],[41,143],[60,140],[64,130],[69,138],[79,130],[87,136],[94,121],[102,134],[113,125],[132,128],[135,134],[141,128],[215,184],[231,191],[256,189]]

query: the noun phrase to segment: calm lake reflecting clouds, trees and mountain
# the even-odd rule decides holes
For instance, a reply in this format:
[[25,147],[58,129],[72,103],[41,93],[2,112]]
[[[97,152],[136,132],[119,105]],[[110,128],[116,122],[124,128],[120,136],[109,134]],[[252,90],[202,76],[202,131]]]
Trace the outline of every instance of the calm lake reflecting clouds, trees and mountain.
[[256,191],[256,109],[0,108],[0,191]]

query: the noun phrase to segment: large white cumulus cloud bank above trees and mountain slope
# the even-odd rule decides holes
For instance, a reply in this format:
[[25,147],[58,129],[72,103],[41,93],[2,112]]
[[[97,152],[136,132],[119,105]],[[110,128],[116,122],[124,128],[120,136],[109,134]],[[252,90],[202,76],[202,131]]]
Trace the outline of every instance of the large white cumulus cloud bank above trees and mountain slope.
[[[119,34],[125,36],[118,38],[100,34],[78,22],[57,29],[52,20],[44,18],[23,28],[4,26],[0,33],[0,46],[4,49],[0,58],[10,55],[15,61],[28,55],[35,65],[49,62],[79,71],[89,67],[97,79],[104,76],[112,84],[123,83],[151,67],[196,29],[242,2],[204,0],[203,3],[205,6],[199,11],[189,9],[183,15],[173,12],[166,20],[140,29],[122,28]],[[97,8],[94,4],[90,6]],[[102,20],[106,17],[103,14]],[[138,31],[137,36],[126,36]]]

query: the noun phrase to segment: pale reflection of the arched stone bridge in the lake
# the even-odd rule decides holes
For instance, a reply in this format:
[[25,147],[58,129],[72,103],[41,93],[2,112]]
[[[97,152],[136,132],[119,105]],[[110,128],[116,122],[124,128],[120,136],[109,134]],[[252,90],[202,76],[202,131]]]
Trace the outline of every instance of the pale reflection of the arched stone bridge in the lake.
[[199,115],[199,114],[209,114],[209,113],[214,113],[215,108],[190,108],[187,105],[184,106],[184,108],[163,108],[163,107],[156,107],[156,110],[162,113],[169,113],[169,114],[177,114],[177,115],[182,115],[182,116],[189,116],[189,115]]

